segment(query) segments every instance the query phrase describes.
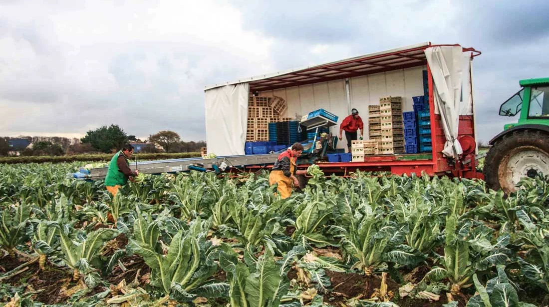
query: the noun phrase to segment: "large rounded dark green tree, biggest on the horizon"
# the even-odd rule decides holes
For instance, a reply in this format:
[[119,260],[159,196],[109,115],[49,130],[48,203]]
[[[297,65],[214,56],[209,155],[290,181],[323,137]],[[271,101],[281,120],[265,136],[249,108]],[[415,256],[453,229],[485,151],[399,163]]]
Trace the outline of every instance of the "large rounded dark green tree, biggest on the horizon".
[[92,144],[93,148],[100,152],[110,153],[120,149],[128,141],[128,137],[118,125],[110,125],[86,132],[81,141]]

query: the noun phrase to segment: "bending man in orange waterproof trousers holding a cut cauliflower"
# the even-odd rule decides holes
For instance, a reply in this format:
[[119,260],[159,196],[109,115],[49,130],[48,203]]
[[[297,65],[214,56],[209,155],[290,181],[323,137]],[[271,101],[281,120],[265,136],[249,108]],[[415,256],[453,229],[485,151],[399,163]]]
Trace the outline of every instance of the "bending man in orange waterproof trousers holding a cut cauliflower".
[[303,152],[303,145],[295,143],[285,152],[278,155],[278,158],[269,175],[269,185],[278,183],[278,193],[282,199],[290,197],[292,194],[292,183],[299,186],[296,175],[307,174],[306,170],[296,170],[296,160]]

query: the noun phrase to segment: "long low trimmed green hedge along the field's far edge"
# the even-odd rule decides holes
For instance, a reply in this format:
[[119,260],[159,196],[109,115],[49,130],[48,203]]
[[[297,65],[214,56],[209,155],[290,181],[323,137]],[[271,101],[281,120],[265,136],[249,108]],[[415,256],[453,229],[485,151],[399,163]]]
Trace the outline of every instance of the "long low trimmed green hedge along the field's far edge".
[[[109,161],[114,154],[78,154],[78,155],[59,155],[59,156],[30,156],[30,157],[0,157],[0,163],[63,163],[74,161]],[[133,154],[132,161],[137,160],[161,160],[161,159],[182,159],[198,158],[200,153],[156,153],[156,154]]]

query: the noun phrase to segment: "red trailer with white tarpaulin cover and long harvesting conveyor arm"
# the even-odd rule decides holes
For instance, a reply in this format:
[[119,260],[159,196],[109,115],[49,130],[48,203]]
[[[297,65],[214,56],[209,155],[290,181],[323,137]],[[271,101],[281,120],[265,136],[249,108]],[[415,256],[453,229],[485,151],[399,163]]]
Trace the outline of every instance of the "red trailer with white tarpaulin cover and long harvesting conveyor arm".
[[[424,173],[483,178],[477,170],[479,157],[472,86],[472,60],[478,55],[480,52],[474,48],[459,44],[427,42],[207,86],[206,143],[208,153],[220,157],[144,161],[133,164],[132,168],[144,174],[191,170],[231,173],[271,168],[278,153],[244,154],[250,96],[283,96],[288,102],[288,117],[295,113],[299,118],[301,114],[324,108],[343,119],[350,114],[351,108],[365,110],[383,96],[401,96],[404,98],[403,108],[412,110],[412,96],[425,91],[429,97],[432,139],[429,153],[372,155],[358,162],[328,163],[318,159],[318,151],[306,150],[298,160],[298,167],[306,168],[315,163],[325,174],[340,176],[360,170],[395,175]],[[423,83],[418,80],[423,70],[427,70],[428,88],[423,88]],[[308,120],[306,116],[302,117],[301,122]],[[339,123],[332,122],[329,126],[332,127],[330,133],[338,132]],[[306,145],[315,149],[316,142]],[[104,178],[106,172],[107,168],[82,170],[75,177],[96,180]]]

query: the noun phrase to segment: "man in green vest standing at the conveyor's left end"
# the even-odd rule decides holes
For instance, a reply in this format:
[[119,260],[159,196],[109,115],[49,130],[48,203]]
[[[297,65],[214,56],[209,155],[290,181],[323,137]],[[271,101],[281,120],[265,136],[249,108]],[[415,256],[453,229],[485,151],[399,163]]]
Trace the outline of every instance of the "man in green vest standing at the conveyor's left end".
[[109,163],[109,170],[107,171],[107,177],[105,178],[105,186],[107,191],[113,194],[113,197],[118,193],[118,189],[121,186],[126,185],[128,178],[136,177],[139,175],[139,171],[132,171],[130,169],[130,162],[128,159],[132,158],[133,146],[131,144],[125,144],[122,146],[122,150],[115,153]]

